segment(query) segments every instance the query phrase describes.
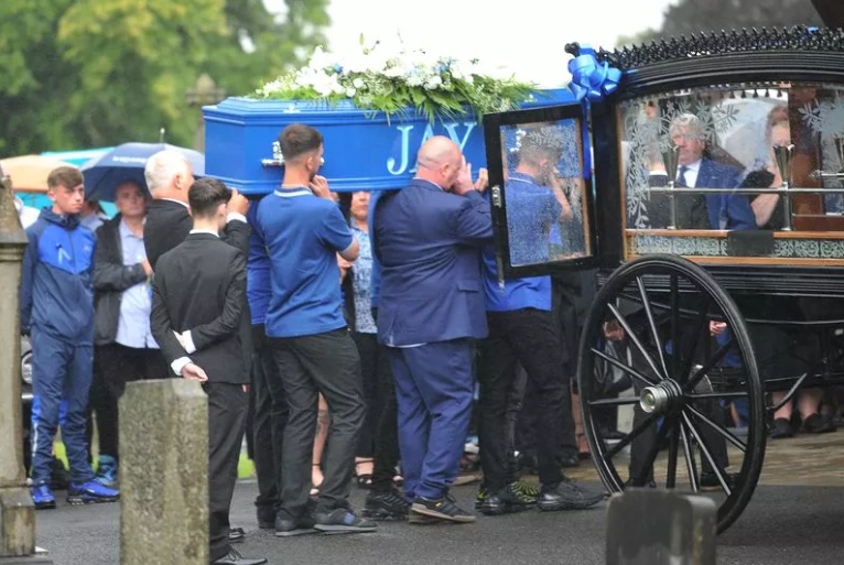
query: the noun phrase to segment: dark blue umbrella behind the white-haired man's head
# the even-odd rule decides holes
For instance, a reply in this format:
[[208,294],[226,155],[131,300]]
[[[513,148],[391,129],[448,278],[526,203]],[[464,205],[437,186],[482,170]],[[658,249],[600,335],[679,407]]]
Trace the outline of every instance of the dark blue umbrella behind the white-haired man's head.
[[183,153],[191,163],[194,176],[205,175],[205,155],[198,151],[167,143],[123,143],[82,166],[85,196],[91,200],[115,202],[115,189],[126,181],[134,181],[147,188],[143,177],[147,160],[165,149]]

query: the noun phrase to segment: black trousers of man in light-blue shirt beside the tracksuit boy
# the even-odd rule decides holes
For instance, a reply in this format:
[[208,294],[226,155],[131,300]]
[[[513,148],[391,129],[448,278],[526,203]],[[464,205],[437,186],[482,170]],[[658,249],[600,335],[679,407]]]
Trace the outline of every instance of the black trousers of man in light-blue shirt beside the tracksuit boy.
[[[120,344],[95,348],[88,411],[97,414],[100,455],[118,458],[117,401],[122,396],[126,383],[173,376],[158,349],[140,349]],[[91,430],[90,425],[88,430]]]

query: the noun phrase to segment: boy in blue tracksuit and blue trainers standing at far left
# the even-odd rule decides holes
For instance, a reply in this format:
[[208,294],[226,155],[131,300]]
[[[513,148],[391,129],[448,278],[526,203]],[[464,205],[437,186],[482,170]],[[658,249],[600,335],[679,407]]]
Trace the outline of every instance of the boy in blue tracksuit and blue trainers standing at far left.
[[53,439],[62,400],[67,402],[62,438],[71,464],[67,501],[110,502],[120,493],[94,479],[85,437],[94,359],[94,233],[79,226],[85,191],[76,167],[47,177],[52,207],[26,229],[21,330],[32,336],[32,498],[55,508],[50,488]]

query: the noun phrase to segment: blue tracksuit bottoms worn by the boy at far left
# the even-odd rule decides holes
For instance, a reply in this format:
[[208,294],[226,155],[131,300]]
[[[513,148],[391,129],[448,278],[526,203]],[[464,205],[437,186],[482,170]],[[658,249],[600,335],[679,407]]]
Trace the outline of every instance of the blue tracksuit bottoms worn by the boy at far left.
[[85,438],[94,348],[32,328],[32,481],[50,483],[53,439],[63,400],[66,414],[62,439],[71,464],[71,480],[94,477]]

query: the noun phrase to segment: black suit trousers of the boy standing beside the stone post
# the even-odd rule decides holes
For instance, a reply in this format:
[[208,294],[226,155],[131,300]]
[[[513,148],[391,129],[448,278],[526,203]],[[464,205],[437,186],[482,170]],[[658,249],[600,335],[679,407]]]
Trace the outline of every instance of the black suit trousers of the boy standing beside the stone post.
[[244,384],[206,382],[208,394],[208,526],[210,561],[229,552],[228,512],[237,482],[249,392]]

